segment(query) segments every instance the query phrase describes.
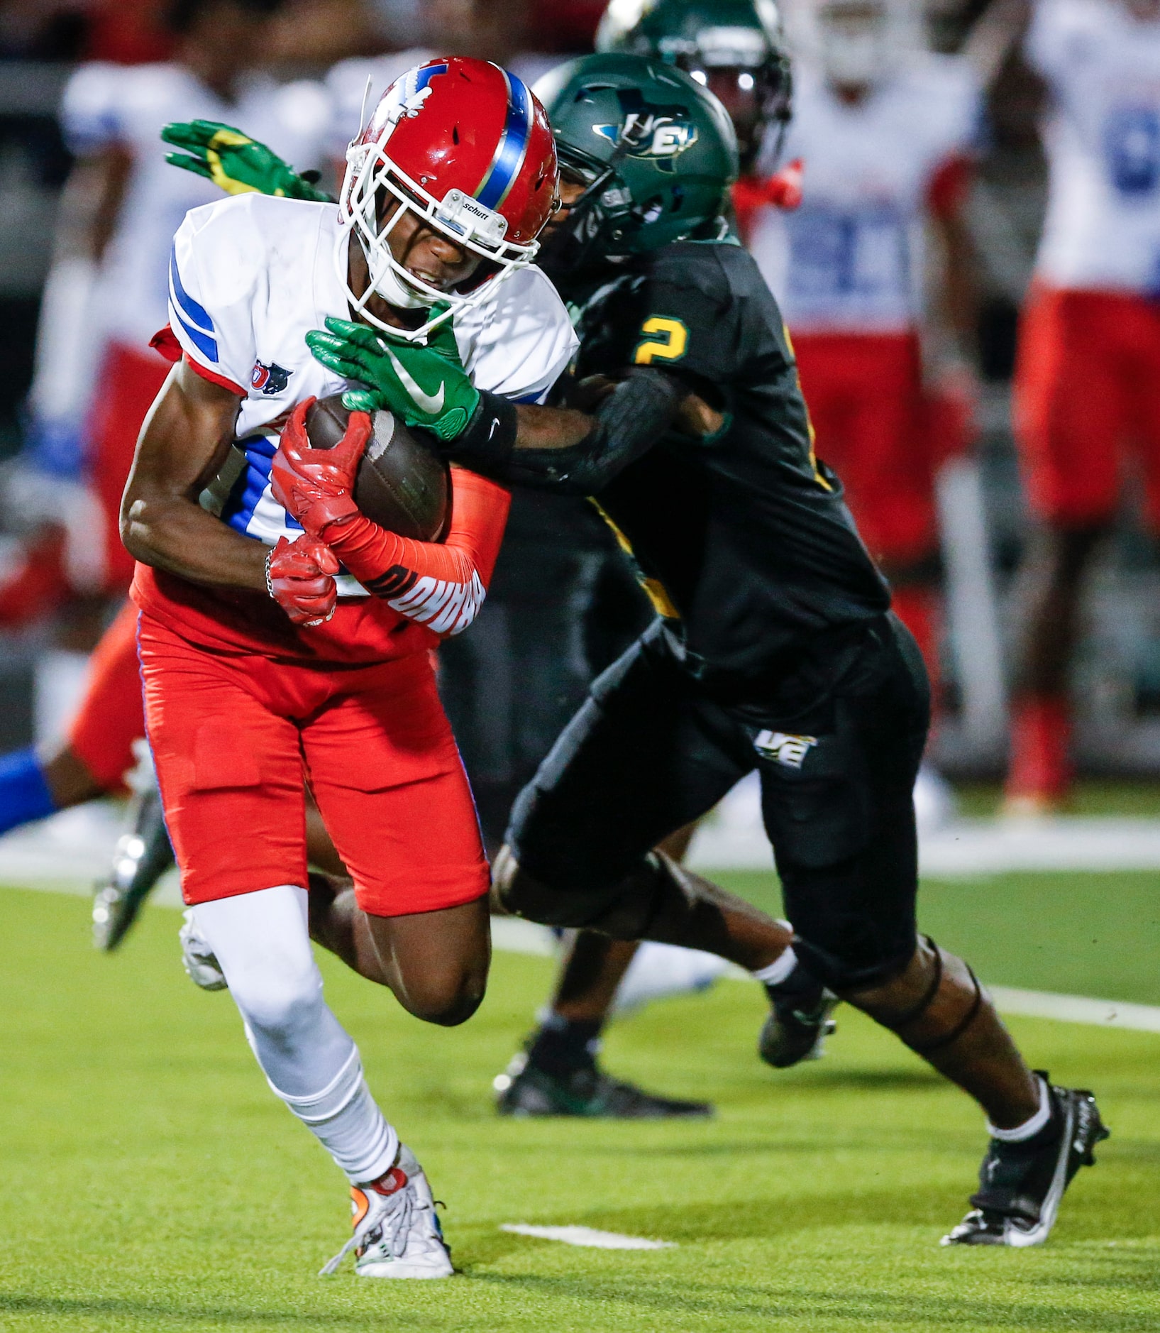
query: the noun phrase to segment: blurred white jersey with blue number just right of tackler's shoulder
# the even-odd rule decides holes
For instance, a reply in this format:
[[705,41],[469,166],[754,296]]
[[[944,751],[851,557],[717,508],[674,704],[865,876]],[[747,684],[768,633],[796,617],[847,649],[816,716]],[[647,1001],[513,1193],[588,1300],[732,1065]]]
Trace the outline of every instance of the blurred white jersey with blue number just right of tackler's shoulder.
[[966,61],[916,55],[847,105],[795,72],[783,156],[804,159],[802,207],[764,208],[750,249],[796,332],[895,333],[920,319],[923,217],[939,168],[968,155],[980,92]]

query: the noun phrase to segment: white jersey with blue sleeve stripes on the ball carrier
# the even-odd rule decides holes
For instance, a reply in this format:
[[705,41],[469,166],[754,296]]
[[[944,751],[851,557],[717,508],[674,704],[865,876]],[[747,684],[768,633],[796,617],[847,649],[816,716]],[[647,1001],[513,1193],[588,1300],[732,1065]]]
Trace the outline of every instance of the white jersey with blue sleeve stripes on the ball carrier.
[[[338,236],[333,204],[237,195],[196,208],[173,240],[170,327],[206,379],[245,395],[234,427],[245,471],[221,517],[270,545],[301,532],[269,485],[285,415],[348,387],[305,343],[328,315],[350,317],[334,268]],[[455,315],[454,331],[474,384],[515,403],[542,401],[578,345],[538,268],[495,284],[490,297]]]

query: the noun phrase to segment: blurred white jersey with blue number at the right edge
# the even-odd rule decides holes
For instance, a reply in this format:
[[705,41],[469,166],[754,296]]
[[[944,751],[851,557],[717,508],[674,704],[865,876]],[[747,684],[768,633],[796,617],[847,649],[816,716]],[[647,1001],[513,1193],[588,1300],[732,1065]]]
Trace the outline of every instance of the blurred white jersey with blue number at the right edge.
[[1160,293],[1160,21],[1116,0],[1039,0],[1027,56],[1052,95],[1036,273]]

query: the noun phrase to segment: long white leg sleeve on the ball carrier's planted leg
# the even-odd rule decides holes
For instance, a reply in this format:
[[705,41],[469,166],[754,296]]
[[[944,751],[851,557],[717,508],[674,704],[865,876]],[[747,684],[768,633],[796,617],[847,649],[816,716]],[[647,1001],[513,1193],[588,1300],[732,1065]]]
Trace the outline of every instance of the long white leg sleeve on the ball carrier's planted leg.
[[273,1092],[356,1184],[394,1161],[398,1136],[362,1077],[358,1048],[322,998],[306,890],[282,884],[194,908]]

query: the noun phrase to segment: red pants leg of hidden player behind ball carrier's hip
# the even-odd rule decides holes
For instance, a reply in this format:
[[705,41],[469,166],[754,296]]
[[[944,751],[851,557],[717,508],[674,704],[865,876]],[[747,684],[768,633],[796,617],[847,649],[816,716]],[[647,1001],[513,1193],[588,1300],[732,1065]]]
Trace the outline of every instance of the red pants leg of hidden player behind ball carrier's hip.
[[69,749],[111,792],[133,766],[133,741],[145,734],[141,669],[137,665],[137,608],[127,601],[92,657]]

